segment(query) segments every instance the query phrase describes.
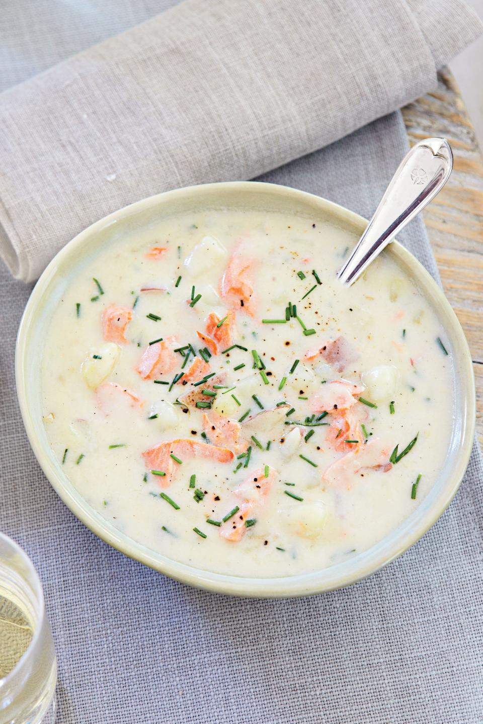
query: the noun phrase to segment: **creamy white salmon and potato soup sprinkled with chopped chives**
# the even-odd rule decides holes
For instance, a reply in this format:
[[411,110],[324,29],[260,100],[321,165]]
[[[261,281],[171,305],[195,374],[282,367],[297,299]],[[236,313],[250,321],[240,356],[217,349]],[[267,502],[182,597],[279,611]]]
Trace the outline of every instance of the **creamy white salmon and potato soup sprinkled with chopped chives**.
[[290,576],[411,515],[450,444],[450,348],[389,255],[341,285],[354,243],[227,209],[83,266],[46,336],[44,421],[106,521],[197,568]]

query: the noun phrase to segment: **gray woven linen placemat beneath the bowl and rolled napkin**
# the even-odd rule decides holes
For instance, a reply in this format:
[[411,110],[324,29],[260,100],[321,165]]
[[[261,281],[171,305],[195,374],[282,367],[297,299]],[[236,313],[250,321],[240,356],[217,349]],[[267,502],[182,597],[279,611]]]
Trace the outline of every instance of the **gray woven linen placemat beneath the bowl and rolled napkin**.
[[[22,62],[4,74],[4,84],[169,4],[106,0],[105,12],[93,1],[59,4],[51,33],[49,0],[19,0],[20,32],[7,35],[0,59]],[[369,216],[406,143],[393,114],[262,180]],[[402,240],[437,277],[421,221]],[[455,501],[424,539],[350,589],[277,601],[189,589],[96,539],[41,473],[20,420],[13,372],[30,290],[1,267],[0,525],[33,557],[43,580],[59,659],[60,724],[482,723],[479,451]]]

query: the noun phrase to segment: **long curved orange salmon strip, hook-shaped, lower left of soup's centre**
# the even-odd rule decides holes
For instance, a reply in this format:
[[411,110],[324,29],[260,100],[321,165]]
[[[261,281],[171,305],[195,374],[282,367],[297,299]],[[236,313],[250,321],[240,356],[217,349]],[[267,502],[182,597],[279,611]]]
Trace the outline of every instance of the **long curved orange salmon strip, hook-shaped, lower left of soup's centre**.
[[180,460],[190,460],[191,458],[204,458],[206,460],[215,460],[217,463],[230,463],[235,455],[226,447],[217,447],[217,445],[208,445],[206,442],[198,442],[188,438],[180,438],[161,442],[159,445],[150,447],[143,452],[146,468],[149,470],[158,470],[166,473],[165,476],[157,476],[159,485],[163,488],[168,487],[175,477],[177,468],[180,463],[173,460],[171,455],[175,455]]

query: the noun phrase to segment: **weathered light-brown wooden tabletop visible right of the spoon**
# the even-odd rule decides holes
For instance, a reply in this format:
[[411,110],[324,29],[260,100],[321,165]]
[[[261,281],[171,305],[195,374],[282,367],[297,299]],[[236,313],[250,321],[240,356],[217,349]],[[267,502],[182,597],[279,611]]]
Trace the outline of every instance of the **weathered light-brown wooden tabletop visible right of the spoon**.
[[453,76],[403,109],[411,145],[444,136],[454,167],[445,188],[424,211],[446,296],[469,342],[476,380],[476,431],[483,446],[483,158]]

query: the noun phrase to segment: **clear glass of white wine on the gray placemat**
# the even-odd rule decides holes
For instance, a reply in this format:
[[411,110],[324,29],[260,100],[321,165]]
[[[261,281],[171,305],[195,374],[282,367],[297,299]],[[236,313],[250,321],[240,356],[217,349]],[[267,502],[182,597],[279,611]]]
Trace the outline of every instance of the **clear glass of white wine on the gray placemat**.
[[57,665],[41,582],[0,534],[0,724],[53,724]]

